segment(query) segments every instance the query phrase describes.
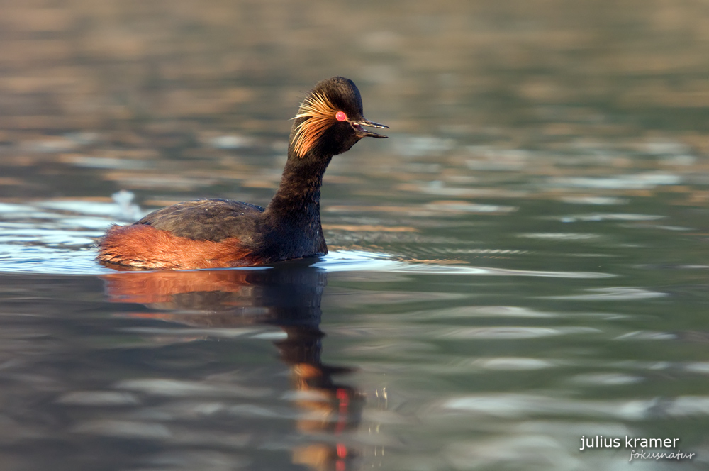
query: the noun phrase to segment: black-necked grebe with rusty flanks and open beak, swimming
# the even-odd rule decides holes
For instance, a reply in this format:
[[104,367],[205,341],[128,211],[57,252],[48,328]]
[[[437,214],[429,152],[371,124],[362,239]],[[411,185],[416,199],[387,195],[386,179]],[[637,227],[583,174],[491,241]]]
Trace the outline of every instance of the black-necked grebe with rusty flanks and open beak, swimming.
[[334,155],[388,128],[362,116],[362,97],[345,77],[318,82],[294,118],[288,160],[262,208],[228,199],[173,204],[130,226],[111,226],[97,243],[108,267],[138,270],[248,267],[328,253],[320,187]]

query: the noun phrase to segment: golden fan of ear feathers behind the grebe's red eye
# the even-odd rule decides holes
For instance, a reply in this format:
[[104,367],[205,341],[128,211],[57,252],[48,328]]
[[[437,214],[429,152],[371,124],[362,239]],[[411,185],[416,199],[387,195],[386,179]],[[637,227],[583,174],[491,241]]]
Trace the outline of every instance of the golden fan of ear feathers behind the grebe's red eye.
[[297,118],[306,118],[298,124],[293,137],[293,150],[296,156],[303,157],[313,148],[318,139],[336,120],[337,109],[327,96],[318,92],[311,94],[303,101],[296,114]]

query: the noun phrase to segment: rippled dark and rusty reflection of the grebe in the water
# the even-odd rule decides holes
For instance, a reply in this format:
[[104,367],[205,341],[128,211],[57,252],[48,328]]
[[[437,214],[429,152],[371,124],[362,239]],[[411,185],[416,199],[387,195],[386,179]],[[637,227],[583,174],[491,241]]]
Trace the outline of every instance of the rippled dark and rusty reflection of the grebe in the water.
[[[295,426],[313,436],[293,448],[292,462],[318,471],[345,471],[359,453],[345,443],[343,433],[359,425],[364,396],[333,379],[351,368],[325,365],[320,359],[325,335],[320,331],[320,301],[327,275],[310,263],[296,260],[257,270],[116,272],[102,278],[109,301],[160,310],[131,316],[210,329],[252,324],[281,328],[286,337],[274,345],[291,372],[294,404],[301,411]],[[317,440],[323,433],[323,440]]]

